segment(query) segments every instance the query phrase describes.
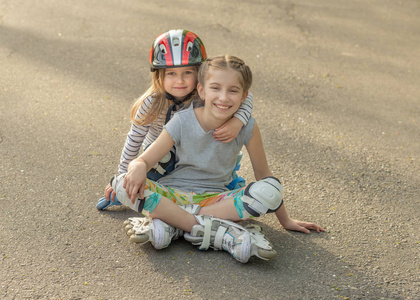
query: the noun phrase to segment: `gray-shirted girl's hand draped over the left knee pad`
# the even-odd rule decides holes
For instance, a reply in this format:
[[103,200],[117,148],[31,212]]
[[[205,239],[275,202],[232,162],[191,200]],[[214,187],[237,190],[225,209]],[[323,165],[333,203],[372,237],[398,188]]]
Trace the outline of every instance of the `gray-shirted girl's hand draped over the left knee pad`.
[[124,177],[123,188],[125,189],[131,203],[139,198],[143,199],[144,187],[146,184],[147,166],[143,161],[133,160],[128,165],[127,175]]

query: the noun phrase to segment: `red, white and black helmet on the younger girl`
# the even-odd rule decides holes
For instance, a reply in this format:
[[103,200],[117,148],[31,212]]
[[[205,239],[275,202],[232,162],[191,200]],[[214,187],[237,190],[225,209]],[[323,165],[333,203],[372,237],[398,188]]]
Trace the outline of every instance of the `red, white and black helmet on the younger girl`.
[[154,41],[150,49],[151,70],[199,65],[207,59],[201,39],[188,30],[169,30]]

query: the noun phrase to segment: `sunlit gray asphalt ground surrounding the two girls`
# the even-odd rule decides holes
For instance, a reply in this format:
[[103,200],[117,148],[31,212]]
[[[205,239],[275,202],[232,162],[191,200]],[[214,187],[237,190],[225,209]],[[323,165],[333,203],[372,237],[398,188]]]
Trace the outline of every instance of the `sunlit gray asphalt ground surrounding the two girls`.
[[[418,1],[0,1],[1,299],[419,299]],[[289,214],[246,264],[130,243],[98,212],[169,29],[254,73]],[[245,158],[241,175],[253,180]]]

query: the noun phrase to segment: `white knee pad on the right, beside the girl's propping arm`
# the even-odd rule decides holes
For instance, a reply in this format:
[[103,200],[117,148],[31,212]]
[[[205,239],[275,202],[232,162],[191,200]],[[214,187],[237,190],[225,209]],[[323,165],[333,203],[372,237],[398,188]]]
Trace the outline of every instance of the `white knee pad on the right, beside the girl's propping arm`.
[[283,186],[275,177],[266,177],[253,182],[242,196],[245,209],[254,217],[277,211],[283,204]]

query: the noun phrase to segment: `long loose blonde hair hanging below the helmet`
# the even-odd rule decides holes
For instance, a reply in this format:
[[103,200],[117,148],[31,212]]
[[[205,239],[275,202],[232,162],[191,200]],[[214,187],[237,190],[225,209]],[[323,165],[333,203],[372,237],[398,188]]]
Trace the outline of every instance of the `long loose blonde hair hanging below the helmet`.
[[[197,66],[198,70],[199,66]],[[164,111],[166,112],[170,106],[170,102],[166,99],[165,96],[165,88],[163,86],[163,79],[165,78],[165,70],[166,69],[156,69],[152,72],[152,85],[147,89],[147,91],[140,96],[139,99],[134,102],[133,106],[131,107],[131,122],[137,126],[146,125],[155,121],[160,114]],[[152,96],[154,98],[152,102],[152,106],[147,115],[143,116],[141,119],[136,119],[137,112],[140,106],[143,104],[144,100],[148,97]],[[194,89],[192,94],[182,101],[184,106],[189,106],[191,100],[198,98],[197,89]],[[165,120],[163,119],[162,122]]]

